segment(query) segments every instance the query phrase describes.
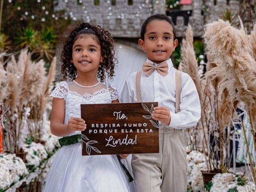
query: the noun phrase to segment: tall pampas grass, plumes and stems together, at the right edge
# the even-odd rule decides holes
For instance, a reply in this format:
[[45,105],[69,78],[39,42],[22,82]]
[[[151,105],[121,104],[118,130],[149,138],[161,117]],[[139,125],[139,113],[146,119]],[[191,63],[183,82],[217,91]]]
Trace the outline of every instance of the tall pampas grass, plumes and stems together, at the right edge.
[[[206,25],[204,34],[209,55],[215,67],[208,72],[211,78],[222,79],[216,86],[216,96],[222,98],[223,92],[230,100],[242,102],[250,118],[251,133],[256,150],[256,25],[247,34],[242,21],[240,28],[231,26],[229,22],[218,20]],[[234,105],[234,108],[235,105]],[[232,115],[231,115],[232,116]],[[242,130],[246,143],[246,151],[250,160],[250,175],[256,186],[256,172],[250,149],[246,139],[246,131],[242,122]]]

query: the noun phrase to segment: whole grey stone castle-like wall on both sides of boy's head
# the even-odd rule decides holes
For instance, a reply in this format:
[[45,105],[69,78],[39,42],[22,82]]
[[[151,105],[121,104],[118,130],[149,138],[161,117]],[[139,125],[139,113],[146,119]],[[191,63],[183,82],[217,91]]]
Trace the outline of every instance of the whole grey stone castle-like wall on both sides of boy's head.
[[[113,37],[139,38],[140,28],[144,20],[152,14],[166,14],[165,0],[99,0],[99,5],[94,5],[94,0],[58,0],[56,10],[65,9],[74,19],[98,24],[108,29]],[[132,5],[128,5],[132,1]],[[216,4],[214,4],[216,2]],[[228,3],[227,3],[228,2]],[[218,16],[226,8],[232,12],[239,12],[238,0],[192,0],[191,5],[182,6],[181,10],[188,11],[188,24],[192,26],[194,36],[204,34],[204,24],[218,20]],[[185,36],[187,26],[184,17],[176,19],[177,37]]]

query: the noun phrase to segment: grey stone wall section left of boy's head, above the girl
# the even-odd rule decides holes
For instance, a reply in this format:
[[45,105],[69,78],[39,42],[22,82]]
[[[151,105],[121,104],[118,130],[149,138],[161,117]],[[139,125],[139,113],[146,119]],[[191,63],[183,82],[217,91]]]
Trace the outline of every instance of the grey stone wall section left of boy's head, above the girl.
[[165,13],[165,1],[132,0],[132,2],[132,5],[128,5],[128,0],[116,0],[116,5],[112,5],[111,0],[100,0],[100,5],[95,6],[94,0],[86,0],[86,5],[78,5],[77,0],[66,0],[66,2],[58,0],[55,9],[66,9],[72,12],[76,19],[103,26],[113,37],[138,38],[141,25],[148,16]]

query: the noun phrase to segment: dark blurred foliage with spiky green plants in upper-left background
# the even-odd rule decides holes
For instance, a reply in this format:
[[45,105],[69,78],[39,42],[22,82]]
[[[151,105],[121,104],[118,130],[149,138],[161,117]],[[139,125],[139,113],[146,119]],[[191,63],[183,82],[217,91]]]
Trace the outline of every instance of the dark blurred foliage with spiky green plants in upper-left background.
[[0,52],[15,53],[27,47],[33,60],[43,59],[50,66],[72,19],[64,10],[54,11],[53,0],[1,1]]

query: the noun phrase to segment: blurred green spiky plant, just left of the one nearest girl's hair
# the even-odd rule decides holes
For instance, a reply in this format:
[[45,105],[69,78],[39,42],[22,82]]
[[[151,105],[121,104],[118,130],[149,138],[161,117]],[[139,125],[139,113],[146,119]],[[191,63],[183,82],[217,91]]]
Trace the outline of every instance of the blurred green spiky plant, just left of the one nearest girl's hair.
[[22,32],[18,33],[18,37],[15,39],[20,48],[28,47],[30,51],[38,46],[40,40],[38,32],[29,27],[23,28]]

